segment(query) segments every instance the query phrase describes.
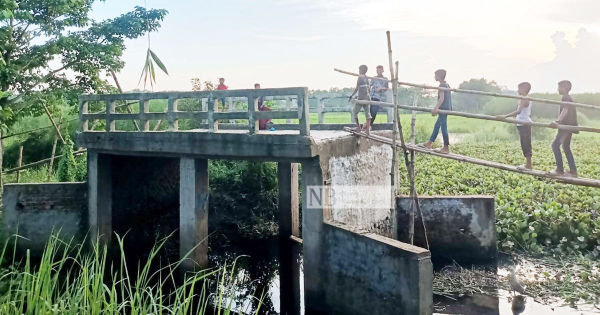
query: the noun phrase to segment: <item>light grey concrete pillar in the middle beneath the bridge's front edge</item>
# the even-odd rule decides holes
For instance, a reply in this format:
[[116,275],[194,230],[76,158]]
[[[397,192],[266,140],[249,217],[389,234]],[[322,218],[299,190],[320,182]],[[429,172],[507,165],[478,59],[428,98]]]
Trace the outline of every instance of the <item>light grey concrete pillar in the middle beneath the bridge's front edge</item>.
[[[208,267],[208,160],[179,160],[179,257],[182,271]],[[191,251],[191,252],[190,252]],[[188,254],[189,253],[189,254]]]

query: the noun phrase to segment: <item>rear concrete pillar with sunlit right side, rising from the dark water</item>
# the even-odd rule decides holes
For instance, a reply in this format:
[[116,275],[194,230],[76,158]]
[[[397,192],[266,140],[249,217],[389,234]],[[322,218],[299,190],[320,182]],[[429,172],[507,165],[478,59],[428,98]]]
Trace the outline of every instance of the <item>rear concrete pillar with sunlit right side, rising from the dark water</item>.
[[298,163],[277,163],[279,235],[300,236],[298,214]]

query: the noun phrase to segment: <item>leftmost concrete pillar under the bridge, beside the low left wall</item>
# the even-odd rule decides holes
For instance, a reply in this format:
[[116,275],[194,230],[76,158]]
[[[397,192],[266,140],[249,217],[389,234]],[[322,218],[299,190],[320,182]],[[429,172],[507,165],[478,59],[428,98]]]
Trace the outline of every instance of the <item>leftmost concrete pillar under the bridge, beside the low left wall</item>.
[[88,151],[88,223],[90,240],[110,248],[112,239],[112,158]]

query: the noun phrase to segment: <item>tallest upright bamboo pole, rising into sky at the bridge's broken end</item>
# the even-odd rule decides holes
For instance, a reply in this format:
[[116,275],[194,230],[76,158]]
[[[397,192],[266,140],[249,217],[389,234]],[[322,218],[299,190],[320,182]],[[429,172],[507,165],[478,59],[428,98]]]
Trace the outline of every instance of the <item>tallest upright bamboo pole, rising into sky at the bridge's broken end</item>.
[[[389,75],[392,77],[392,92],[394,104],[398,103],[398,95],[396,93],[398,85],[395,84],[398,82],[398,78],[394,74],[394,63],[392,62],[392,41],[389,35],[389,31],[385,32],[386,37],[388,38],[388,61],[389,61]],[[394,106],[394,124],[392,124],[392,169],[389,173],[391,178],[391,234],[392,238],[398,239],[398,209],[396,205],[396,174],[398,172],[398,149],[396,146],[396,139],[398,137],[398,128],[396,127],[397,118],[398,118],[398,107]]]

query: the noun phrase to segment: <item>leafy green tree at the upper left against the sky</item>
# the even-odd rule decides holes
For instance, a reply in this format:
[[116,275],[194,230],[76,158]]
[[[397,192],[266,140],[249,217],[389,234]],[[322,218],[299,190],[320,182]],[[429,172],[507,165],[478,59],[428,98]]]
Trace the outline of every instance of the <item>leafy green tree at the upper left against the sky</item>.
[[[115,19],[89,19],[94,0],[0,0],[0,98],[4,124],[41,115],[42,104],[75,107],[84,93],[113,92],[101,76],[120,70],[124,41],[156,31],[166,10],[136,7]],[[67,74],[67,71],[69,74]]]

